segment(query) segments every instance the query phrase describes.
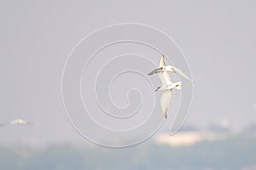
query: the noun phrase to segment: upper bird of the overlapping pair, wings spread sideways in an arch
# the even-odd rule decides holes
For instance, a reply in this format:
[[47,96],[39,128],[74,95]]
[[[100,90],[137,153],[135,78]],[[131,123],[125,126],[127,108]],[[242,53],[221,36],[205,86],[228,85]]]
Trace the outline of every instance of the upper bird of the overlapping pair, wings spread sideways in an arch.
[[[161,59],[165,59],[165,56],[163,55]],[[178,68],[176,68],[175,66],[172,66],[172,65],[166,65],[164,61],[163,61],[163,63],[164,63],[164,65],[160,65],[159,68],[155,69],[154,71],[149,72],[148,75],[153,75],[153,74],[156,74],[156,73],[162,73],[162,72],[165,72],[165,71],[170,71],[170,72],[177,73],[178,75],[184,77],[189,82],[194,82],[193,80],[191,80],[191,78],[189,76],[187,76],[185,73],[183,73],[183,71],[181,71],[180,69],[178,69]]]

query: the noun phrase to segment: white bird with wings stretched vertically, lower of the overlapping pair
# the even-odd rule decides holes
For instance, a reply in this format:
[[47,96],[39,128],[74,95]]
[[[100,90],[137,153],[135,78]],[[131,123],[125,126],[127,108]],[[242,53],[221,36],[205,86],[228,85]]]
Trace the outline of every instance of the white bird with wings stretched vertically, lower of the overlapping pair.
[[[160,68],[166,67],[165,63],[165,56],[163,55],[160,59]],[[156,69],[157,70],[157,69]],[[162,82],[162,85],[158,88],[156,88],[155,92],[160,90],[163,91],[161,98],[160,98],[160,105],[161,109],[164,113],[164,116],[167,118],[167,111],[170,106],[171,98],[172,98],[172,90],[174,88],[181,89],[181,82],[172,82],[170,75],[167,71],[151,71],[148,73],[148,75],[153,75],[154,73],[158,74],[158,77],[160,78],[160,81]],[[154,73],[152,73],[154,72]]]

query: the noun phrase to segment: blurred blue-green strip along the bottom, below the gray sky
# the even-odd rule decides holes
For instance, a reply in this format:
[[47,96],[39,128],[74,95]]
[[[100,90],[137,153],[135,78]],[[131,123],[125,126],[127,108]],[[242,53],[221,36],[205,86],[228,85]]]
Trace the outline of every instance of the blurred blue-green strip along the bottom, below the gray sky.
[[229,139],[171,147],[152,141],[125,149],[84,144],[0,146],[0,169],[255,169],[256,138],[236,135]]

